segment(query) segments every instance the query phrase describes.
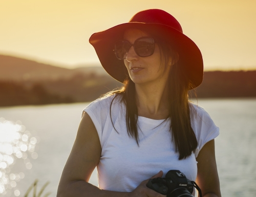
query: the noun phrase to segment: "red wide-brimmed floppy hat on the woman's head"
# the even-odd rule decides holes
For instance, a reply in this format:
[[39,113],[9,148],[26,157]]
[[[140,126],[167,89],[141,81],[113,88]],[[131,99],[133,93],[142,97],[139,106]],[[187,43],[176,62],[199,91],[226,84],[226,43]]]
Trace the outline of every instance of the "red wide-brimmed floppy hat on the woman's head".
[[199,48],[183,34],[180,23],[172,15],[159,9],[138,12],[129,22],[94,33],[90,37],[89,42],[110,76],[121,83],[129,76],[123,60],[117,59],[113,50],[115,42],[123,39],[124,31],[130,28],[143,29],[166,40],[178,52],[178,66],[181,66],[193,88],[202,83],[203,59]]

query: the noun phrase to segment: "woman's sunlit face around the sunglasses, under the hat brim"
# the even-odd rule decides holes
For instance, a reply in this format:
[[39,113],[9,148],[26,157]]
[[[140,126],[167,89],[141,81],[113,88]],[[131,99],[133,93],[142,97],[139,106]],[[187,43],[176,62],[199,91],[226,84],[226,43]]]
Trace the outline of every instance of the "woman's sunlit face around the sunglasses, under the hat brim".
[[[128,29],[124,33],[124,39],[131,44],[140,37],[148,36],[146,33],[138,29]],[[161,65],[162,62],[162,65]],[[134,47],[130,48],[124,64],[129,72],[131,80],[135,84],[155,83],[160,80],[167,80],[170,70],[170,65],[163,65],[161,61],[159,46],[155,43],[154,54],[148,57],[139,57]]]

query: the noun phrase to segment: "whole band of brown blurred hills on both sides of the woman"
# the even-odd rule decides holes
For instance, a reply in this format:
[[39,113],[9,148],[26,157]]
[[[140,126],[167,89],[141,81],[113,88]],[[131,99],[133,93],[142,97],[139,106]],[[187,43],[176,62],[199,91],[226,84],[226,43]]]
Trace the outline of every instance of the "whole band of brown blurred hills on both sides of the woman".
[[[67,69],[0,55],[0,106],[90,102],[121,86],[101,66]],[[198,98],[256,97],[256,70],[204,72],[196,93]]]

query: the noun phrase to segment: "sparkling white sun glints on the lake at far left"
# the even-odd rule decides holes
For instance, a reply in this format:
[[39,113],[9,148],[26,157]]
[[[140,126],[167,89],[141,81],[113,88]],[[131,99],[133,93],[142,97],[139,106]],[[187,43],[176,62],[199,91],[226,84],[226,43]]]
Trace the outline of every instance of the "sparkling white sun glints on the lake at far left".
[[[17,159],[23,159],[27,169],[32,168],[31,159],[37,159],[35,146],[39,137],[33,137],[21,121],[0,118],[0,194],[20,195],[17,182],[25,177],[23,172],[12,172]],[[13,196],[13,195],[12,195]]]

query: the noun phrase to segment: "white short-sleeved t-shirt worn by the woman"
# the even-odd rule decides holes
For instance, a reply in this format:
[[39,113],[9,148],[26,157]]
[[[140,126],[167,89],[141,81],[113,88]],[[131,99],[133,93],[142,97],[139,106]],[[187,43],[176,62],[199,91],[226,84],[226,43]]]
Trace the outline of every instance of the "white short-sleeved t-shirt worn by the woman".
[[[188,158],[179,160],[175,152],[172,135],[169,132],[169,121],[138,117],[139,146],[136,140],[127,134],[125,122],[125,105],[114,96],[98,99],[87,106],[86,111],[91,117],[99,135],[101,157],[98,170],[99,188],[111,191],[133,191],[142,181],[151,178],[160,170],[165,174],[170,169],[180,170],[187,179],[195,181],[197,177],[196,157],[203,145],[219,135],[209,114],[201,107],[191,104],[197,115],[191,115],[198,147]],[[192,108],[193,108],[192,107]],[[161,125],[160,125],[161,124]],[[158,127],[157,127],[158,126]]]

